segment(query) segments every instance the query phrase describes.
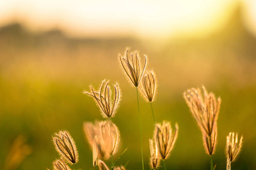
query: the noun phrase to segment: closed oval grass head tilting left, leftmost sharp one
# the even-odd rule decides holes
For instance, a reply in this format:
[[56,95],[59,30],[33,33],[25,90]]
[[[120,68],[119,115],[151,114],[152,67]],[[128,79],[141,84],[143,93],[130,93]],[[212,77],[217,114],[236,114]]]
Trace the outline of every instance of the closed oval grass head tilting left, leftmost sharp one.
[[61,158],[69,164],[76,164],[79,161],[79,155],[76,148],[76,143],[68,133],[68,131],[60,130],[59,133],[55,133],[52,137],[53,144],[56,151]]

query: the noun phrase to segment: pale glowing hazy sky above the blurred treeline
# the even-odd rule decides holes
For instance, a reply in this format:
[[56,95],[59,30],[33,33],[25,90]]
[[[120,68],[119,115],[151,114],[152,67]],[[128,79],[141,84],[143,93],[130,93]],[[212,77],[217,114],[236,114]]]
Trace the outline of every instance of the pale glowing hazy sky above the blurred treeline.
[[[238,0],[0,0],[0,25],[31,30],[61,28],[72,36],[203,36],[225,22]],[[256,0],[244,0],[256,20]],[[255,22],[256,23],[256,22]]]

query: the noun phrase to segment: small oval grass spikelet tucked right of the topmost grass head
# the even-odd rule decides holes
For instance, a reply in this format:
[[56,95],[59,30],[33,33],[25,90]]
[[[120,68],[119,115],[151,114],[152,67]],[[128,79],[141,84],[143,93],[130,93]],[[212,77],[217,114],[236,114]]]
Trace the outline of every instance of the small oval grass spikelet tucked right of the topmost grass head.
[[143,98],[148,102],[154,101],[157,87],[154,71],[147,70],[143,74],[141,81],[139,89]]

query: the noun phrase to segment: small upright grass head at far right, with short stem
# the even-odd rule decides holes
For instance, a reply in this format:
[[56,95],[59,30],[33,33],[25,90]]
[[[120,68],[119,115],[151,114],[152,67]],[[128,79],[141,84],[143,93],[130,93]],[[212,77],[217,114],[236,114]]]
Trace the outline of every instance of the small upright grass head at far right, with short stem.
[[241,136],[238,142],[238,134],[229,133],[226,137],[226,157],[227,157],[227,164],[226,169],[231,169],[231,163],[234,162],[237,158],[237,155],[240,153],[242,148],[243,137]]

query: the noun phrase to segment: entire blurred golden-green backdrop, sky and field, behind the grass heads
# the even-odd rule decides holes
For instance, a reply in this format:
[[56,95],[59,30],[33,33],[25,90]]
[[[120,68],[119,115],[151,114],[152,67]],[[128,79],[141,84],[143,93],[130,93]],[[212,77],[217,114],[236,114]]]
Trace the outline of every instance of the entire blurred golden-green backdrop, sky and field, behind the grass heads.
[[[66,129],[79,150],[79,169],[92,169],[84,121],[103,120],[82,94],[103,79],[119,82],[113,122],[121,132],[119,164],[141,168],[136,90],[118,63],[126,46],[148,56],[158,78],[157,122],[179,124],[167,169],[209,169],[201,133],[183,92],[201,87],[222,99],[216,169],[225,169],[230,131],[242,134],[232,169],[256,169],[255,1],[0,1],[0,169],[52,169],[52,134]],[[144,164],[154,124],[139,98]],[[106,162],[110,164],[110,162]],[[72,167],[74,168],[74,167]]]

